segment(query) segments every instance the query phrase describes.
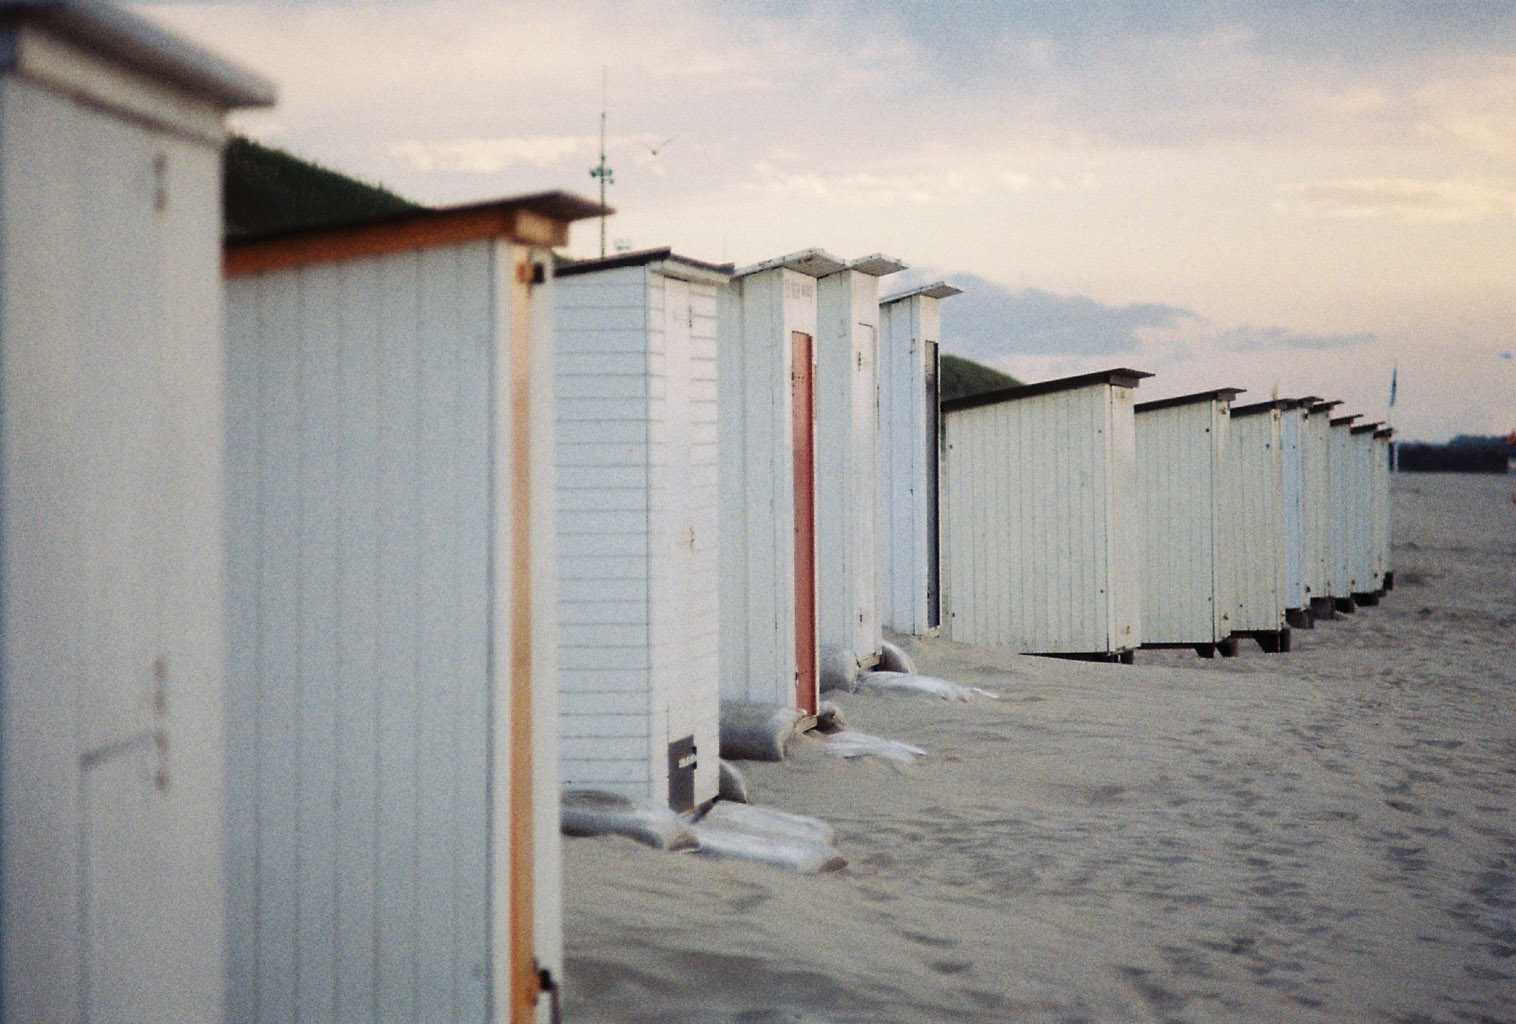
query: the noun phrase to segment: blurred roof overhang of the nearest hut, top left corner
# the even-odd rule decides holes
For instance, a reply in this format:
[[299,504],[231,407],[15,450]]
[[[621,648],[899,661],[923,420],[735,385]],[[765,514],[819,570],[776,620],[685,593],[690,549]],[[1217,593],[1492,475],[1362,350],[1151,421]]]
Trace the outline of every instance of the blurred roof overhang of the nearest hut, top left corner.
[[[0,35],[38,26],[85,50],[176,85],[227,111],[271,106],[268,79],[185,42],[120,8],[92,0],[0,0]],[[24,65],[14,46],[0,47],[0,68]]]

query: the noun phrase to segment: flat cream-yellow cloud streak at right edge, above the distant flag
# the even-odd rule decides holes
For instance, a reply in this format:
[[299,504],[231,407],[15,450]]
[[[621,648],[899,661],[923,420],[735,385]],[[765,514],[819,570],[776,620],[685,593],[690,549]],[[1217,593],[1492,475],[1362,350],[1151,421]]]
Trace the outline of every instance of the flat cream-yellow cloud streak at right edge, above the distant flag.
[[1286,184],[1278,194],[1286,208],[1322,217],[1469,221],[1516,214],[1516,182],[1508,181],[1358,177]]

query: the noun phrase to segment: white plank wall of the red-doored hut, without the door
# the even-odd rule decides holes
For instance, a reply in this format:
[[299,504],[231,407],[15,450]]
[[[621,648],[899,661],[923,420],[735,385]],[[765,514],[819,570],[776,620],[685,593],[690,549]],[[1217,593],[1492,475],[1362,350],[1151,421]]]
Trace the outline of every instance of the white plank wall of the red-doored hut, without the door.
[[719,311],[722,699],[793,707],[790,334],[816,337],[816,278],[785,267],[734,278]]

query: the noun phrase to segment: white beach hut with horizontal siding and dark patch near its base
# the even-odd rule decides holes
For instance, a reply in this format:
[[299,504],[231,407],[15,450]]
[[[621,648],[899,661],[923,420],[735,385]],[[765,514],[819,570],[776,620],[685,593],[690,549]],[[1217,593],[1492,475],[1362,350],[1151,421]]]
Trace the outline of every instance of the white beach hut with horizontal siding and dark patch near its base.
[[669,249],[558,269],[562,783],[688,810],[720,721],[716,302]]

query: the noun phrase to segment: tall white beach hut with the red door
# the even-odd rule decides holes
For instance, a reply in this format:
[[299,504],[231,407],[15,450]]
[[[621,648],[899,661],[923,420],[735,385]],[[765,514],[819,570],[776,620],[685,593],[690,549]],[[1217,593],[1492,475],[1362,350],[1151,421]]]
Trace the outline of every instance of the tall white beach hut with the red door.
[[816,279],[841,269],[808,249],[720,293],[722,701],[819,710]]

